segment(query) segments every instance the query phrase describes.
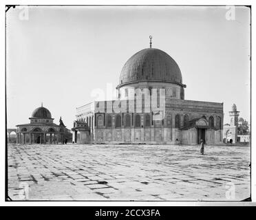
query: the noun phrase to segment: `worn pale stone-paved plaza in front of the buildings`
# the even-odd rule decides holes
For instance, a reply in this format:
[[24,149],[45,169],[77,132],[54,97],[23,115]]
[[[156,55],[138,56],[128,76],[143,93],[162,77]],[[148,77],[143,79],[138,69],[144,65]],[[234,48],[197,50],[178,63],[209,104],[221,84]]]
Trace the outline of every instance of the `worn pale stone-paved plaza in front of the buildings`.
[[12,200],[240,201],[250,146],[9,145]]

